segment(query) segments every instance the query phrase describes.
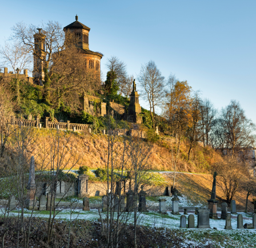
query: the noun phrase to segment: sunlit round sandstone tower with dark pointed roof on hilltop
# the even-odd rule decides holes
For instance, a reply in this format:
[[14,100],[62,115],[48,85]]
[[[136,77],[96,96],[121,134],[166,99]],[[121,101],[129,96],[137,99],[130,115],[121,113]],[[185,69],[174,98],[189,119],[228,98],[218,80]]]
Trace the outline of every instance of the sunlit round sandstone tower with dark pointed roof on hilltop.
[[86,60],[87,68],[94,68],[98,72],[101,72],[101,59],[102,54],[99,52],[93,52],[89,50],[89,32],[90,28],[83,25],[81,22],[78,22],[78,16],[75,16],[75,22],[70,23],[63,29],[65,32],[70,30],[75,32],[75,35],[78,37],[77,47],[83,51]]

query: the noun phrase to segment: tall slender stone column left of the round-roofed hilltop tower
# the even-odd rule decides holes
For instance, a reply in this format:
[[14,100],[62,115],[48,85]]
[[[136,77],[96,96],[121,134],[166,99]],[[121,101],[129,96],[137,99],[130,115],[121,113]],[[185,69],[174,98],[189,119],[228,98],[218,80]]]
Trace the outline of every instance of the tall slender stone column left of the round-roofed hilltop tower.
[[34,70],[33,70],[33,78],[35,80],[35,84],[43,85],[43,81],[45,80],[45,72],[44,63],[45,63],[45,35],[42,34],[42,29],[37,29],[38,33],[34,34]]

